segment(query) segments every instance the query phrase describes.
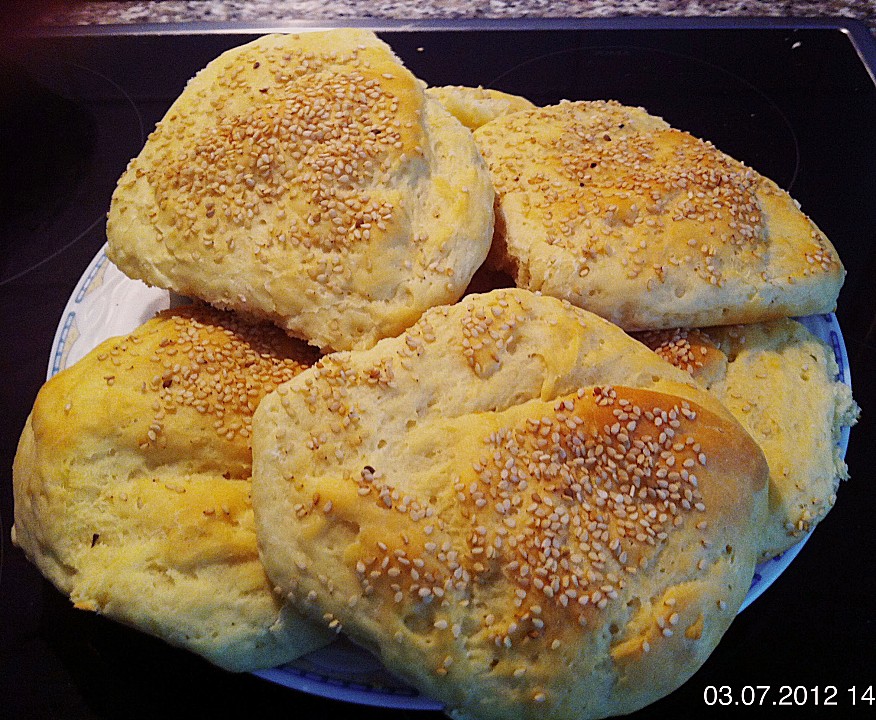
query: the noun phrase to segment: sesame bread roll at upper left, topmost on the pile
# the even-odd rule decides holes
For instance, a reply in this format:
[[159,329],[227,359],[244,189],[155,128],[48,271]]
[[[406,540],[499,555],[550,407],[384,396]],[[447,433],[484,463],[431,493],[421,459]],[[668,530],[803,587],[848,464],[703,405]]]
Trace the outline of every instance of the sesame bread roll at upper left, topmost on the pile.
[[119,180],[108,254],[321,349],[363,348],[462,295],[493,194],[471,133],[373,33],[268,35],[168,110]]

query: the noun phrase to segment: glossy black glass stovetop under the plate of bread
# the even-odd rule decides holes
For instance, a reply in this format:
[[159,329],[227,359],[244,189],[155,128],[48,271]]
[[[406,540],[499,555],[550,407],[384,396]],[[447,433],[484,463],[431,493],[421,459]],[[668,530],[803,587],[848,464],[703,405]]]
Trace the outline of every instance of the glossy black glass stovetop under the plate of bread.
[[[833,241],[848,270],[837,308],[863,416],[851,480],[790,567],[733,623],[703,668],[636,717],[710,715],[707,687],[783,685],[803,707],[834,686],[849,717],[876,685],[876,44],[852,21],[555,21],[383,26],[430,84],[484,85],[538,104],[614,98],[771,177]],[[55,31],[0,48],[0,716],[427,717],[324,700],[229,675],[74,610],[12,547],[11,464],[64,305],[105,242],[115,182],[198,69],[258,31]],[[169,32],[173,30],[173,32]],[[857,704],[852,706],[853,693]],[[876,688],[874,688],[876,691]],[[760,693],[757,693],[759,696]],[[805,697],[804,697],[805,695]],[[816,700],[817,697],[817,700]],[[751,699],[751,693],[745,696]],[[731,705],[722,716],[750,714]],[[433,713],[435,717],[440,714]]]

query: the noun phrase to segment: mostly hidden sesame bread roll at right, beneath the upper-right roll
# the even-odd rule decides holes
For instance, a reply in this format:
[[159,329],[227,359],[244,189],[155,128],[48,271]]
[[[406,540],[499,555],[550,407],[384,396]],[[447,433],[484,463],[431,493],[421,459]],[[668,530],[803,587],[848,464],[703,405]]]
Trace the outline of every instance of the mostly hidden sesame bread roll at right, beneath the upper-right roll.
[[841,480],[842,428],[860,408],[837,379],[833,350],[800,323],[676,329],[638,338],[712,392],[763,449],[769,518],[760,559],[789,549],[833,507]]

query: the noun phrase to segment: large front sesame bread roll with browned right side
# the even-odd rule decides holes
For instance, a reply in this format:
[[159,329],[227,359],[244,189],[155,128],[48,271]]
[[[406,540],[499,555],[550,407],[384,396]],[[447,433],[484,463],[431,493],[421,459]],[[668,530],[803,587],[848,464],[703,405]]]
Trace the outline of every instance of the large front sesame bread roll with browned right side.
[[270,577],[457,718],[682,684],[750,586],[766,476],[689,376],[519,289],[324,357],[253,418]]

